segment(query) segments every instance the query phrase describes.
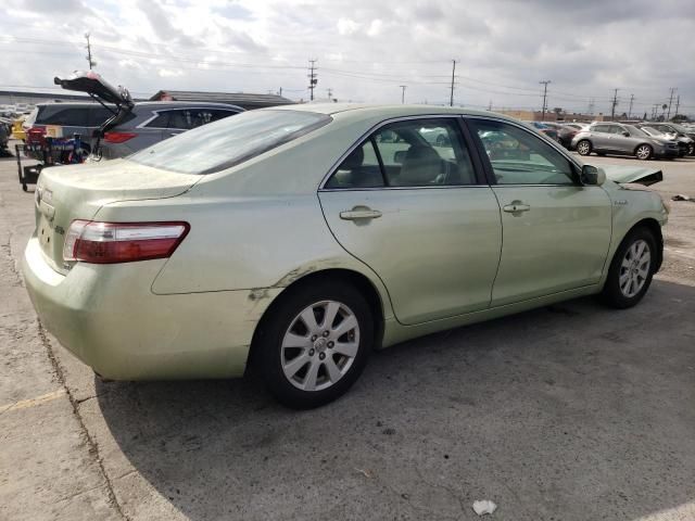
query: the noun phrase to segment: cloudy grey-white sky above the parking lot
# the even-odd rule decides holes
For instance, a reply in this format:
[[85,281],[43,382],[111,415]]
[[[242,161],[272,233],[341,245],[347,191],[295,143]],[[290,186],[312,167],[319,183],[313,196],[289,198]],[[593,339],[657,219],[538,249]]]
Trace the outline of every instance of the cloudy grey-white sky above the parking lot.
[[136,97],[160,89],[340,101],[695,114],[693,0],[3,0],[0,88],[96,69]]

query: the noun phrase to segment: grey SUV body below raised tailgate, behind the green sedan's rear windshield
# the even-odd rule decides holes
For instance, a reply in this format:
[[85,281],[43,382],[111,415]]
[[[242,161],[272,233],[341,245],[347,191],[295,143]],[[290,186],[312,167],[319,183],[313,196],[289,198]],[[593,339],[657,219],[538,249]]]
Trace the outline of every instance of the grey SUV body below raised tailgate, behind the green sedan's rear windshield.
[[226,103],[185,101],[136,103],[130,111],[130,117],[104,134],[101,141],[101,156],[108,160],[125,157],[172,136],[240,112],[243,112],[240,106]]

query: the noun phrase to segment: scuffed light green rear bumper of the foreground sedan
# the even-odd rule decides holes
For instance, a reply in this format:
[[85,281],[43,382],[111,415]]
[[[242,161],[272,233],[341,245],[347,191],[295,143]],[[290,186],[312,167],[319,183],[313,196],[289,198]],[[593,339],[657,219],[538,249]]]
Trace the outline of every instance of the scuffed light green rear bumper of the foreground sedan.
[[31,238],[23,271],[43,327],[104,378],[243,374],[255,325],[280,290],[155,295],[150,288],[164,263],[77,263],[63,276]]

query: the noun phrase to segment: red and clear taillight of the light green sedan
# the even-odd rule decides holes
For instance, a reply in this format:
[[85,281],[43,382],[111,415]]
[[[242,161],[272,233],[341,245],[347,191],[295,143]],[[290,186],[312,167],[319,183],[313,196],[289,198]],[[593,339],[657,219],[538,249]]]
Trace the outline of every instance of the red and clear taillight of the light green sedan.
[[63,258],[92,264],[167,258],[189,229],[188,223],[73,220],[65,233]]

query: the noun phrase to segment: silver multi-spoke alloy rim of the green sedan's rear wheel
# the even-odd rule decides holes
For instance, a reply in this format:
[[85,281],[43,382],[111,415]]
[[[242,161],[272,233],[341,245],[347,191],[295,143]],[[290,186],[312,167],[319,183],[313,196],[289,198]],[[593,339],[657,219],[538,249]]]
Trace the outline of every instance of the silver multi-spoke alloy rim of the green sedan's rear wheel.
[[302,391],[323,391],[345,376],[358,348],[359,322],[352,309],[317,302],[294,317],[282,338],[282,372]]

